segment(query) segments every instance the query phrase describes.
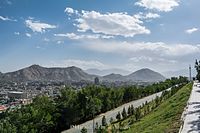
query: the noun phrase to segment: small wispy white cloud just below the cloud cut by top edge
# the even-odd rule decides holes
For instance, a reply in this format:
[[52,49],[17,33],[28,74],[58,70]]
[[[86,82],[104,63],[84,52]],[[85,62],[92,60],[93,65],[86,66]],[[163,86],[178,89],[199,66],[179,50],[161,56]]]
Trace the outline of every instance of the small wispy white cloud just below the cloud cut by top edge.
[[134,15],[134,16],[136,18],[138,18],[138,19],[155,19],[155,18],[159,18],[160,17],[159,14],[151,13],[151,12],[149,12],[147,14],[144,14],[144,13],[140,12],[140,13]]

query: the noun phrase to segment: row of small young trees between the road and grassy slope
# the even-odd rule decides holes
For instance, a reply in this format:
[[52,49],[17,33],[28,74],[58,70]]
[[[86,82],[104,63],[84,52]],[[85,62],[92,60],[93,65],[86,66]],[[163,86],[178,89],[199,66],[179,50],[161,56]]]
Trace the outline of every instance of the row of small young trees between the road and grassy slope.
[[[162,95],[160,97],[157,96],[151,102],[146,101],[145,104],[143,104],[142,106],[139,106],[137,108],[134,108],[133,105],[129,106],[127,110],[125,108],[123,108],[122,112],[118,112],[118,114],[116,115],[116,121],[114,121],[113,118],[110,119],[110,124],[111,124],[111,128],[112,128],[111,132],[115,133],[115,132],[119,132],[124,129],[127,129],[127,127],[129,127],[131,124],[139,121],[142,117],[146,116],[152,110],[157,108],[164,100],[173,96],[183,86],[184,86],[184,84],[181,84],[179,86],[172,87],[170,91],[163,91]],[[124,121],[127,118],[129,119],[128,123],[126,121]],[[118,128],[116,127],[116,124],[115,124],[117,122],[119,123]],[[98,125],[98,124],[96,124],[96,125]],[[107,132],[109,130],[107,128],[108,124],[106,123],[105,116],[103,116],[103,118],[102,118],[102,126],[100,126],[100,127],[97,126],[95,128],[95,131],[97,133],[98,132],[102,133],[102,132]],[[84,132],[87,132],[85,128],[84,128]]]

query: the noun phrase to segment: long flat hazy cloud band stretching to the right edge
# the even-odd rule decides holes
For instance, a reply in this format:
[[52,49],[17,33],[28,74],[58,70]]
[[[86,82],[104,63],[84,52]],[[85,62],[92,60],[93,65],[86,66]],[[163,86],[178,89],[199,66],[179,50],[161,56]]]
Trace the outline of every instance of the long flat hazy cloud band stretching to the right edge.
[[199,45],[190,44],[165,44],[163,42],[119,42],[119,41],[95,41],[84,45],[85,48],[104,52],[118,53],[128,56],[144,55],[159,57],[181,57],[200,53]]

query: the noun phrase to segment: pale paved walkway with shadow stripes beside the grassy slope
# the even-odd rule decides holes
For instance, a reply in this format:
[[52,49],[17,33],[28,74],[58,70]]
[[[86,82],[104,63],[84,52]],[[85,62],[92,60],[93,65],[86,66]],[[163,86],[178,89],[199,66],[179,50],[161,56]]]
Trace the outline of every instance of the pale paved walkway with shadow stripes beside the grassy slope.
[[187,107],[182,115],[180,133],[200,133],[200,83],[193,84]]

